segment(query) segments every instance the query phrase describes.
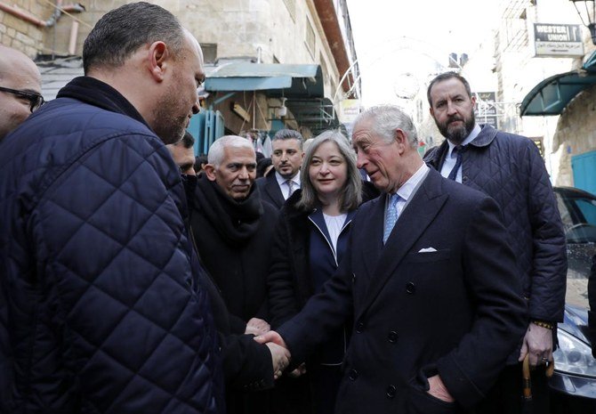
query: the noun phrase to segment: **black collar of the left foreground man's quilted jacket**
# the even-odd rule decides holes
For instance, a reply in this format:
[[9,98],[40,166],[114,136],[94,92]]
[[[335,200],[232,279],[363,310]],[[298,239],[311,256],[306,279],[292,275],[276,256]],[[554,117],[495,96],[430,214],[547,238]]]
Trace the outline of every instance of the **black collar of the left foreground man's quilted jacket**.
[[124,114],[142,122],[151,129],[131,102],[127,101],[116,89],[94,77],[75,77],[60,89],[56,97],[73,98],[103,110]]

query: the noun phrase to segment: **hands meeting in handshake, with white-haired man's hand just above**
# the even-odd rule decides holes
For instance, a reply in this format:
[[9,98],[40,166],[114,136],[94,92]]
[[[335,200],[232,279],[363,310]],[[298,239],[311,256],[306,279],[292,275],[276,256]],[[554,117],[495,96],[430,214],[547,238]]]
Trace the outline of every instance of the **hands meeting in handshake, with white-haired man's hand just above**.
[[[270,330],[270,325],[266,321],[253,318],[246,324],[246,333],[256,335],[254,340],[259,344],[264,344],[269,348],[271,361],[273,364],[273,377],[278,379],[282,372],[290,364],[292,355],[287,350],[286,342],[275,330]],[[290,373],[291,377],[300,377],[306,372],[304,364],[294,369]]]

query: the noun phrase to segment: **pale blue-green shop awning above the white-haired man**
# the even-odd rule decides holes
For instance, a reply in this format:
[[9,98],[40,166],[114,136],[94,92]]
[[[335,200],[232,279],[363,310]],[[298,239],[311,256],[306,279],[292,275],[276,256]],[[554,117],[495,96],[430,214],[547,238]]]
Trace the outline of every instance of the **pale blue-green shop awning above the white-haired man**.
[[284,96],[287,97],[322,98],[323,87],[323,76],[319,65],[235,61],[207,71],[205,79],[205,90],[209,92],[283,89]]

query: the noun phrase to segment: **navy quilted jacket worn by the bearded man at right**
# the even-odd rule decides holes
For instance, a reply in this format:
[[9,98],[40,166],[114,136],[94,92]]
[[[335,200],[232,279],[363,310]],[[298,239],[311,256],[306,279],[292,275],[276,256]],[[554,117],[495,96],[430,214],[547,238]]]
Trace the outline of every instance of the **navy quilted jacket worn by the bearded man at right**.
[[[424,160],[440,171],[447,140]],[[491,196],[517,256],[529,317],[563,321],[567,280],[565,234],[544,160],[528,138],[482,126],[463,152],[462,183]]]

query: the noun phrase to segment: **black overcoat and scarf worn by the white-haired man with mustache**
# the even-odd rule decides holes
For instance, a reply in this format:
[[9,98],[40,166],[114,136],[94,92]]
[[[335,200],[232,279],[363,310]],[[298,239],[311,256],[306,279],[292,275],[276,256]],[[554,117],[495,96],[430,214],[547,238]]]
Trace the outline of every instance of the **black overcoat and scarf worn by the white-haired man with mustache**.
[[253,317],[268,320],[267,275],[278,210],[253,189],[235,201],[205,175],[197,179],[191,227],[201,263],[232,315],[232,333],[244,333]]

